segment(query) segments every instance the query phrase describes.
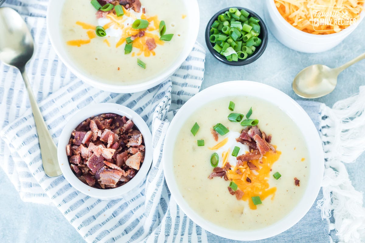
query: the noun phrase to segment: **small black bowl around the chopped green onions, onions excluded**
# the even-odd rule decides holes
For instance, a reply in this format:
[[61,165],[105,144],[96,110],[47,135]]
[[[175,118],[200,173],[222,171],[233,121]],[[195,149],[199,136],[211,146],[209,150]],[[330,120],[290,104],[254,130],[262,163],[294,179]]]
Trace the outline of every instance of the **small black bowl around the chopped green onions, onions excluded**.
[[220,60],[223,63],[231,65],[231,66],[243,66],[243,65],[250,64],[251,62],[254,62],[262,55],[262,53],[264,53],[266,46],[268,44],[268,29],[266,28],[266,25],[265,25],[264,21],[262,21],[260,16],[258,16],[255,12],[251,11],[250,9],[241,8],[241,7],[231,7],[231,8],[237,8],[238,10],[245,9],[247,12],[250,13],[250,16],[257,17],[260,20],[258,22],[258,24],[260,25],[261,32],[258,37],[262,40],[261,45],[256,48],[255,52],[251,56],[249,56],[248,58],[246,58],[244,60],[238,59],[238,62],[228,61],[225,56],[219,54],[216,50],[213,49],[214,43],[211,43],[209,40],[211,26],[214,23],[214,21],[218,19],[218,16],[220,14],[228,11],[230,8],[222,9],[209,20],[209,22],[207,24],[207,28],[205,29],[205,43],[207,44],[207,47],[208,47],[208,50],[210,51],[210,53],[216,59]]

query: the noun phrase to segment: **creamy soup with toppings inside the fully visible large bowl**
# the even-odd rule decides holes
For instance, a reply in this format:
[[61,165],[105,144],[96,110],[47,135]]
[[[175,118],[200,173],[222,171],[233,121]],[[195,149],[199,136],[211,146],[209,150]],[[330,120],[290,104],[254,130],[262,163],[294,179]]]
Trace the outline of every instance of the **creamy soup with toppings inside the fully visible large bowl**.
[[[251,107],[253,121],[245,121]],[[231,113],[244,117],[232,122],[227,118]],[[241,118],[243,124],[257,119],[257,127],[242,126]],[[198,140],[204,145],[198,146],[203,143]],[[227,97],[187,119],[174,146],[173,170],[181,194],[197,214],[222,227],[252,230],[277,222],[299,202],[308,183],[308,158],[303,134],[282,110],[258,98]]]

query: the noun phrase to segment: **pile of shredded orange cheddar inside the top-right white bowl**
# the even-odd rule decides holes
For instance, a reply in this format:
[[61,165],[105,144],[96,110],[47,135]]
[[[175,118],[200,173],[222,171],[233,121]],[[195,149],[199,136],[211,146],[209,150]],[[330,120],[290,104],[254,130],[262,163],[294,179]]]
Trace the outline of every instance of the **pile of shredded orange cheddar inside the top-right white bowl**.
[[364,0],[274,0],[284,19],[310,34],[332,34],[356,24]]

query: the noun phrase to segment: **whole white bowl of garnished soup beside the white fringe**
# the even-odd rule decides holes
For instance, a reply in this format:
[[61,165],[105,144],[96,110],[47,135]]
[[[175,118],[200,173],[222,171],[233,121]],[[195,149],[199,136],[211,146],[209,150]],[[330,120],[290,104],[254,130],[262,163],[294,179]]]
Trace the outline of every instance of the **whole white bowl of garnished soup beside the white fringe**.
[[230,81],[188,100],[166,134],[163,167],[180,208],[233,240],[296,224],[318,195],[322,142],[308,114],[268,85]]

